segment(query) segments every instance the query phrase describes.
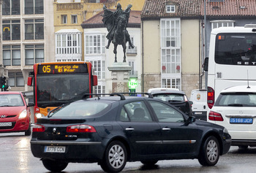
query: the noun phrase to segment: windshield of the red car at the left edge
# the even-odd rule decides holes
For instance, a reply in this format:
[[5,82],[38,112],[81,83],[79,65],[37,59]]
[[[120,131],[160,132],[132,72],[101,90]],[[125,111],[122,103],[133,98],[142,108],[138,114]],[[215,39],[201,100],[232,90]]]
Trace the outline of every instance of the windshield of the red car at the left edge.
[[0,107],[23,107],[20,94],[0,94]]

